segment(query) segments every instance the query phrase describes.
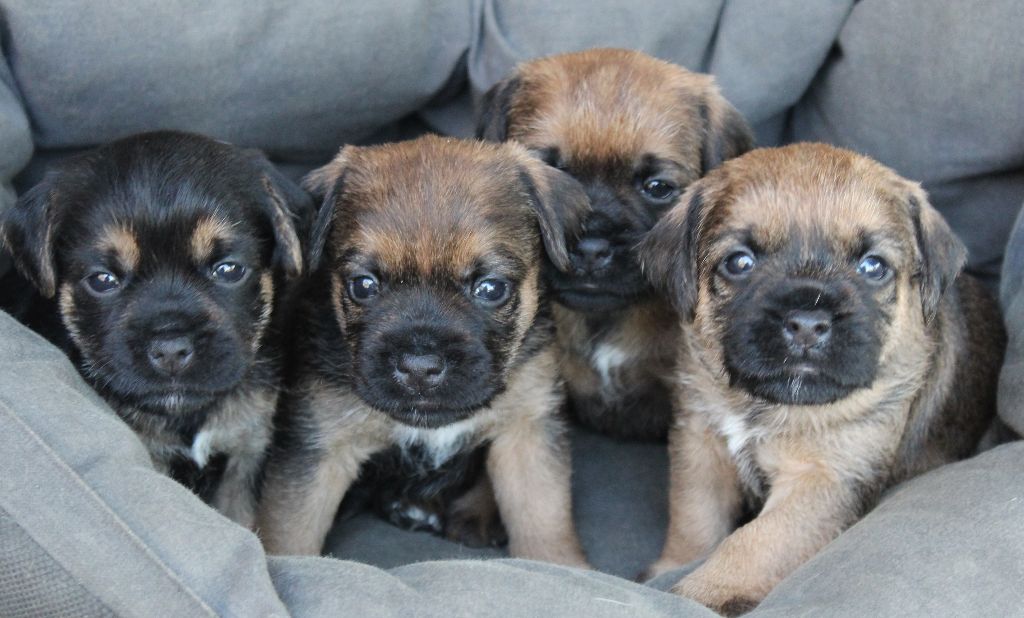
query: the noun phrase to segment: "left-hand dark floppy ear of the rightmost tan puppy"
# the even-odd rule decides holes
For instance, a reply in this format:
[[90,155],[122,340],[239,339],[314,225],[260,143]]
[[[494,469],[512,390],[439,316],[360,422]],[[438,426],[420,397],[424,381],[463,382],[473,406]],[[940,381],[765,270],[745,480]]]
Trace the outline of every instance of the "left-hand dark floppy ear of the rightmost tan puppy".
[[696,307],[696,250],[703,218],[705,189],[698,180],[690,184],[637,248],[647,280],[664,292],[687,320],[693,319]]

